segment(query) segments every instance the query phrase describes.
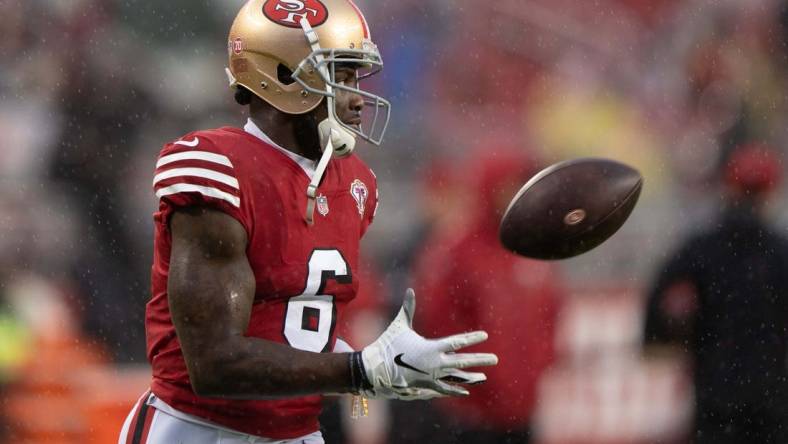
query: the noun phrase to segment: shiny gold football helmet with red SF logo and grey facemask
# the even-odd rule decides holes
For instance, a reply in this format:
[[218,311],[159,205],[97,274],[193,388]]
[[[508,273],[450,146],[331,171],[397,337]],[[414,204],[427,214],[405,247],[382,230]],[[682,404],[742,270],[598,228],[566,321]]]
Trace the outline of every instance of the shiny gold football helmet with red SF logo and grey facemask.
[[[358,84],[334,81],[337,63],[358,67],[360,80],[383,67],[367,22],[351,0],[250,0],[235,18],[227,46],[232,87],[243,86],[288,114],[312,111],[326,98],[332,135],[341,132],[375,145],[382,142],[390,103]],[[371,118],[362,125],[340,121],[334,105],[336,90],[362,96],[373,111]],[[337,146],[345,145],[349,153],[354,142]],[[344,153],[337,149],[336,154]]]

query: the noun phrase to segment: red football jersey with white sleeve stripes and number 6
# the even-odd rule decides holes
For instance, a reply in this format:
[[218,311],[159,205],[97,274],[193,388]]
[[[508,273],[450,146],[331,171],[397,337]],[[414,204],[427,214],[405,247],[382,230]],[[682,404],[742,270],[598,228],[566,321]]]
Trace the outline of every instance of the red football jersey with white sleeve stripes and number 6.
[[156,164],[152,299],[146,309],[151,389],[172,407],[275,439],[319,429],[321,397],[226,400],[194,394],[170,317],[169,219],[178,207],[219,209],[243,225],[256,290],[248,336],[329,352],[335,326],[358,289],[359,240],[377,206],[374,174],[355,156],[333,159],[318,188],[314,225],[304,221],[310,178],[291,156],[237,128],[190,133]]

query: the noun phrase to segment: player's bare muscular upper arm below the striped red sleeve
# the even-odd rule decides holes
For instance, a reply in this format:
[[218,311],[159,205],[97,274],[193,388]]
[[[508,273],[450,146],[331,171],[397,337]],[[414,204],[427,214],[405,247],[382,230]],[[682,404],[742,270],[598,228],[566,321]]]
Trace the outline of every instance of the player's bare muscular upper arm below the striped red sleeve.
[[204,207],[170,221],[168,295],[173,324],[190,374],[211,362],[223,343],[242,336],[254,299],[247,236],[231,216]]

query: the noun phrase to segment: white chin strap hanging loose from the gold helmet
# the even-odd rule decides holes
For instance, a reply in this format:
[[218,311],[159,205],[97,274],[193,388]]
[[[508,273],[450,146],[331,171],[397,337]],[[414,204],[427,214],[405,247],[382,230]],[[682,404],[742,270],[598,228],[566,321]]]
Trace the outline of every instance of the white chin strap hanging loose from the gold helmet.
[[[323,56],[319,53],[320,41],[317,37],[312,26],[305,19],[301,19],[301,27],[304,29],[304,34],[309,41],[312,51],[317,52],[316,60],[319,64],[317,69],[320,69],[323,78],[330,79],[328,68],[322,64]],[[304,220],[308,225],[315,223],[315,203],[317,201],[317,187],[323,179],[323,175],[328,167],[328,161],[332,156],[345,157],[353,152],[356,146],[356,136],[343,128],[338,122],[336,117],[336,107],[334,105],[334,91],[330,84],[326,83],[326,107],[328,108],[328,117],[320,122],[318,125],[318,132],[320,134],[320,145],[323,147],[323,155],[315,168],[315,174],[309,182],[306,189],[306,214]]]

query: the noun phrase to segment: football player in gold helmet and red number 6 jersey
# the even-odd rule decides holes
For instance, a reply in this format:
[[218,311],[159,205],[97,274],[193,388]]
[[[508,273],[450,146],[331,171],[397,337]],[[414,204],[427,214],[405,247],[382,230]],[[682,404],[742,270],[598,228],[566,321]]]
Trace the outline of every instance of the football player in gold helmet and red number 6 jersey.
[[349,0],[251,0],[228,51],[250,118],[160,153],[153,380],[119,443],[322,443],[321,394],[467,395],[459,384],[485,375],[461,369],[497,357],[454,352],[487,334],[420,336],[411,290],[371,345],[335,336],[378,203],[352,151],[357,138],[381,143],[390,108],[359,87],[383,66],[364,16]]

